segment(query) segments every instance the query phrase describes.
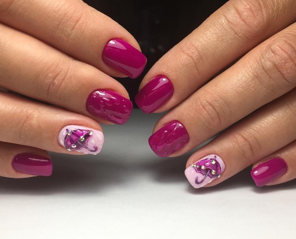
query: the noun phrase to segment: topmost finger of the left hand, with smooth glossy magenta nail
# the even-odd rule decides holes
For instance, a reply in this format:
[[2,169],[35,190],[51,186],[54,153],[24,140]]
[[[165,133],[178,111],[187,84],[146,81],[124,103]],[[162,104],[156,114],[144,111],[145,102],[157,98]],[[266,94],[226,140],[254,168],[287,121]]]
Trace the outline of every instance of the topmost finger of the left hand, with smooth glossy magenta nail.
[[0,22],[114,76],[136,78],[147,62],[131,34],[82,0],[0,0]]

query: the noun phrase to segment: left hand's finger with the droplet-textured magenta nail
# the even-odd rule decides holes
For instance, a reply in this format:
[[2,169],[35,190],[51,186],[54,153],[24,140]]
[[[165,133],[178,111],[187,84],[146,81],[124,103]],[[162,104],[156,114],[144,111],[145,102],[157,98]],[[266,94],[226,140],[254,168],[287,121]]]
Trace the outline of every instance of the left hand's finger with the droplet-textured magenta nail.
[[131,114],[128,93],[115,79],[1,24],[0,61],[6,89],[104,123],[124,124]]

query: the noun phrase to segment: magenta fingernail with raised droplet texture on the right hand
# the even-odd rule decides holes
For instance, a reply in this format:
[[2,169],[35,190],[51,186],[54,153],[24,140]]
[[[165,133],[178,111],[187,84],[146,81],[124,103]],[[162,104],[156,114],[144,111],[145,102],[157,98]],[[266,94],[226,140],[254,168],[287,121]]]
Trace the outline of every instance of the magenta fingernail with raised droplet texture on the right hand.
[[181,122],[174,120],[149,137],[149,145],[159,157],[167,157],[189,142],[189,135]]

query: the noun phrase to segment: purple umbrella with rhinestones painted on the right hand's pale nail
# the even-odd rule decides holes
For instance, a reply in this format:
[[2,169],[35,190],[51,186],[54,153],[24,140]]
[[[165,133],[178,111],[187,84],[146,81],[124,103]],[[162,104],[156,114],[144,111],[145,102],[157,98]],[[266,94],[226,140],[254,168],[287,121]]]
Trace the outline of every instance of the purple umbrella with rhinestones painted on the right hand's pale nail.
[[195,178],[196,184],[203,183],[207,177],[210,177],[210,178],[220,177],[222,170],[216,158],[217,156],[215,156],[214,158],[203,159],[196,162],[195,164],[192,164],[192,167],[196,172],[199,172],[202,175],[204,175],[203,179],[201,179],[200,181],[198,181],[199,180],[198,177]]

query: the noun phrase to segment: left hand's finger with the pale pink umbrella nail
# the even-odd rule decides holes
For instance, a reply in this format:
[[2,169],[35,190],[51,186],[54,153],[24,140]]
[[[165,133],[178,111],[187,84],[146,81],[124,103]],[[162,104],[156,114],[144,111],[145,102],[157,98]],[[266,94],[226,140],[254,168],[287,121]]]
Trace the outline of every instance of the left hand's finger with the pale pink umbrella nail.
[[104,143],[94,120],[0,92],[0,141],[58,153],[98,154]]

